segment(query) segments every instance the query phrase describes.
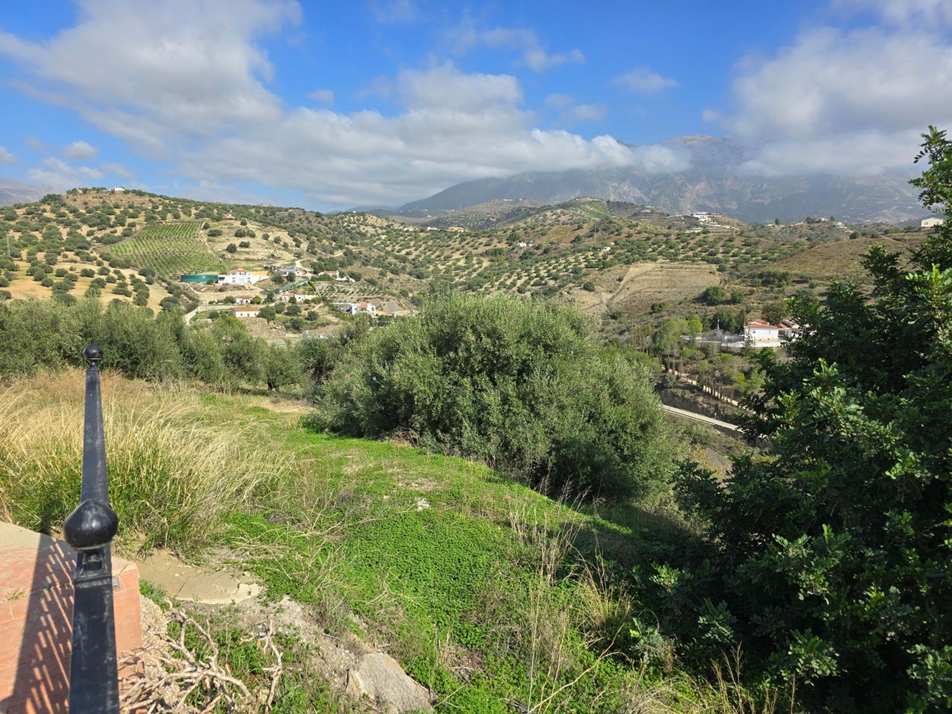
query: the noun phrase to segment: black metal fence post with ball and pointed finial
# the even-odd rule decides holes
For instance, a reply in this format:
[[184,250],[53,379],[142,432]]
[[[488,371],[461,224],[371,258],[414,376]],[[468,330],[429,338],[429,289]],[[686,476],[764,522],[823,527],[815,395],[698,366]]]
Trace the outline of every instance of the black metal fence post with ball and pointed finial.
[[69,712],[118,714],[119,674],[109,544],[119,526],[119,518],[109,507],[99,384],[99,360],[103,350],[98,345],[89,345],[83,355],[89,360],[83,425],[83,483],[80,504],[63,523],[67,543],[79,551],[73,578]]

